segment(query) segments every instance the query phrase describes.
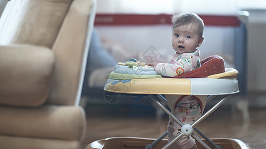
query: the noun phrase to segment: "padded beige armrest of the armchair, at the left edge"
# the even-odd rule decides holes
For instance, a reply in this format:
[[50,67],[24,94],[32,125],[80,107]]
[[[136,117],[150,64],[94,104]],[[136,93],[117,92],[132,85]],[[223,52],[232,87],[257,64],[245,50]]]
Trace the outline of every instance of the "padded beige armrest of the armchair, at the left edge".
[[47,99],[53,52],[30,45],[0,46],[0,104],[36,107]]

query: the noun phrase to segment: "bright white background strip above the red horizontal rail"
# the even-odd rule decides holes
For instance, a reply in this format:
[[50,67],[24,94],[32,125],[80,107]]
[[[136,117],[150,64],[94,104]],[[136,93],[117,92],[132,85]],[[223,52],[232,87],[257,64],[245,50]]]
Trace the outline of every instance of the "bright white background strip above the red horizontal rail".
[[98,0],[97,13],[237,14],[242,0]]

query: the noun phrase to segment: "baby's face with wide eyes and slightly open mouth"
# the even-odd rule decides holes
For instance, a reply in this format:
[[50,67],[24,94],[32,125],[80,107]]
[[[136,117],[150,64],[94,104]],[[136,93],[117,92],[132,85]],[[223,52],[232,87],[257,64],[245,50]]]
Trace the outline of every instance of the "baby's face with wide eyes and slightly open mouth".
[[185,52],[193,52],[203,42],[203,37],[200,37],[198,26],[195,24],[188,24],[182,26],[175,26],[172,33],[173,49],[182,54]]

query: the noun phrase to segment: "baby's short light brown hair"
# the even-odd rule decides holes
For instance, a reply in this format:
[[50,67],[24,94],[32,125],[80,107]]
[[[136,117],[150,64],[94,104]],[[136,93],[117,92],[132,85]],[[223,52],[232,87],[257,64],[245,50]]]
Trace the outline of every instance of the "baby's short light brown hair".
[[172,15],[173,28],[176,26],[194,23],[198,25],[199,35],[203,36],[204,23],[203,20],[195,13],[174,13]]

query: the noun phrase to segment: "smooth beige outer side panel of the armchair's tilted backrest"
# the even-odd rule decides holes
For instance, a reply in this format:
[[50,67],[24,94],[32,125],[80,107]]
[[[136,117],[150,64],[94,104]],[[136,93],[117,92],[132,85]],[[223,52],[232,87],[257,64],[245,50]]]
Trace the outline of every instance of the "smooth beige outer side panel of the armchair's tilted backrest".
[[79,104],[96,13],[95,3],[94,0],[73,0],[70,5],[52,47],[56,63],[48,103]]

